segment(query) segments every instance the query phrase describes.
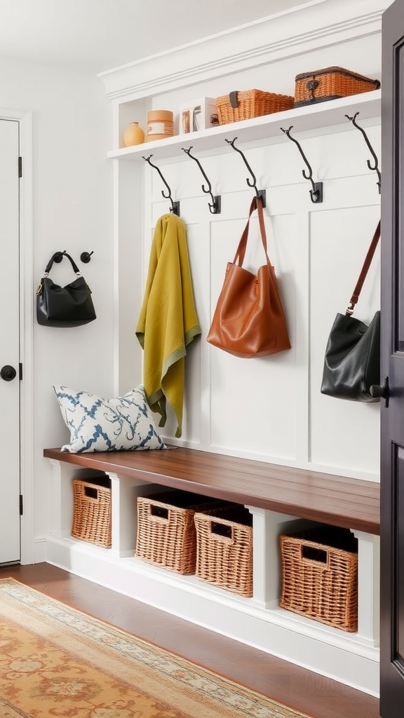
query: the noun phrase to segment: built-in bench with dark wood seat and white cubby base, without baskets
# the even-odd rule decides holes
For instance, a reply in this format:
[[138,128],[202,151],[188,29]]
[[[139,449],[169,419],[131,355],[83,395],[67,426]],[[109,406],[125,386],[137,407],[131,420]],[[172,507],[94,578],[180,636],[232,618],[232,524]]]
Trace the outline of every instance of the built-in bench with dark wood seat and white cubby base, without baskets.
[[[52,462],[52,526],[47,537],[47,561],[51,564],[378,695],[378,482],[184,447],[88,454],[68,454],[55,448],[44,449],[43,454]],[[97,476],[111,479],[111,549],[70,535],[72,480]],[[249,508],[253,516],[252,598],[134,556],[137,496],[157,493],[162,487]],[[349,528],[358,539],[357,633],[279,607],[279,536],[316,523]]]

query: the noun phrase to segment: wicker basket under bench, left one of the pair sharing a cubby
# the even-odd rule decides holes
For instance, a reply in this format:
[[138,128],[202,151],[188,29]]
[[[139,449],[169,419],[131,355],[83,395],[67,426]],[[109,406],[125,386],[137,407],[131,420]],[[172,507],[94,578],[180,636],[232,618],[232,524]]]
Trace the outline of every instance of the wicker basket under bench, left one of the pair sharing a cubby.
[[194,574],[196,530],[193,516],[214,511],[223,501],[187,491],[167,491],[137,498],[137,541],[135,555],[143,561]]

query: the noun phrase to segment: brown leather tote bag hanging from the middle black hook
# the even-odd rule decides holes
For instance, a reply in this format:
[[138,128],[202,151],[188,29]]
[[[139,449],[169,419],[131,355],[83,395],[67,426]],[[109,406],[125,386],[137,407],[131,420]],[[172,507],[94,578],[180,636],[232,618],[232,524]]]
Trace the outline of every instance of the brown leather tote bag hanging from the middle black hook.
[[[249,220],[258,211],[266,264],[257,274],[242,267]],[[236,256],[228,262],[224,284],[206,337],[211,344],[237,357],[263,357],[290,349],[285,313],[277,289],[275,269],[267,254],[267,235],[260,197],[254,197]]]

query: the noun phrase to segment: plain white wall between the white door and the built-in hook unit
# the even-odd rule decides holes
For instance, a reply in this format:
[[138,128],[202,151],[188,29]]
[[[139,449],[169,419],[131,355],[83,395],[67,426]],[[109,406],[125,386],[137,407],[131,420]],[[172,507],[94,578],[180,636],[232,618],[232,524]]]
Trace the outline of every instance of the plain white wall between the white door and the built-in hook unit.
[[[91,285],[97,313],[90,325],[68,330],[40,327],[34,312],[24,318],[33,329],[32,495],[40,548],[49,526],[50,466],[42,450],[68,439],[52,384],[106,393],[112,386],[111,167],[105,159],[109,105],[97,78],[1,60],[0,106],[32,111],[33,276],[24,292],[35,297],[52,253],[67,250]],[[28,165],[29,158],[23,157],[23,168]],[[23,243],[30,236],[25,220]],[[94,252],[89,264],[80,261],[83,251]],[[67,260],[55,265],[52,279],[58,284],[74,279],[69,267]]]

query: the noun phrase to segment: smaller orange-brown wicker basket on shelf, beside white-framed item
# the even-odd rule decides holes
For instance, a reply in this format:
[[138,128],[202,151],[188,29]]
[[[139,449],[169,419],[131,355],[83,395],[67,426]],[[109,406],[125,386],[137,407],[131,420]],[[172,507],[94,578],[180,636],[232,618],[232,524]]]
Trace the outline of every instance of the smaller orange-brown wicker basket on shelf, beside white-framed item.
[[216,97],[219,125],[290,110],[293,104],[291,95],[275,95],[262,90],[244,90]]

